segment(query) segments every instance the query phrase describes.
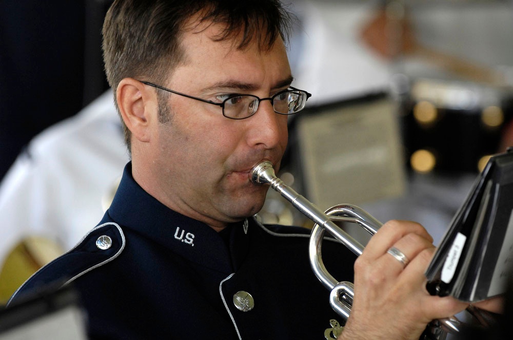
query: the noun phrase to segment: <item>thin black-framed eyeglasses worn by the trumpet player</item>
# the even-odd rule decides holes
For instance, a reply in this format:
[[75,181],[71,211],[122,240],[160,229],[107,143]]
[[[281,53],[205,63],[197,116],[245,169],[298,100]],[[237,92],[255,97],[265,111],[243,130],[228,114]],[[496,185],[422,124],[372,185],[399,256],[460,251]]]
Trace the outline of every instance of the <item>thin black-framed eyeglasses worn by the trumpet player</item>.
[[205,100],[169,90],[148,81],[141,82],[143,84],[168,91],[179,96],[218,105],[223,109],[223,116],[230,119],[245,119],[251,117],[257,113],[259,104],[262,100],[270,100],[275,113],[279,113],[281,115],[293,115],[294,113],[298,113],[303,110],[305,108],[306,101],[311,97],[311,94],[306,91],[289,87],[287,90],[280,91],[269,98],[259,98],[250,94],[234,94],[229,95],[228,98],[223,100],[223,102],[216,103],[211,100]]

